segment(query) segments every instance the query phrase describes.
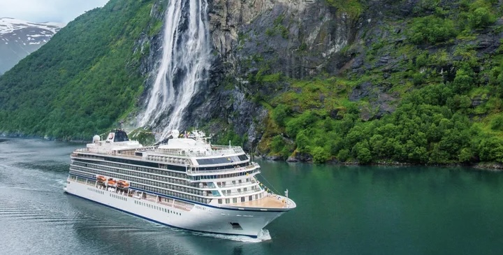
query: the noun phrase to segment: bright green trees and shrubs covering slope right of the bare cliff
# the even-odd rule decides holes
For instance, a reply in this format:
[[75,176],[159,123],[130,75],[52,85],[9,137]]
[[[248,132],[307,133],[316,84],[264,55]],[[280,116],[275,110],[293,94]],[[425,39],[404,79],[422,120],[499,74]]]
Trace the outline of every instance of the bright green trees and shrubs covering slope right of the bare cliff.
[[[355,15],[365,8],[365,1],[351,3],[347,8]],[[365,62],[374,65],[361,75],[349,70],[309,80],[282,73],[252,77],[255,85],[289,86],[279,96],[258,99],[270,109],[258,149],[315,163],[503,162],[500,3],[420,3],[411,19],[383,27],[404,29],[365,48]],[[481,34],[496,43],[481,47]],[[354,48],[348,45],[343,54],[354,54]],[[375,64],[383,55],[401,59],[393,68]],[[356,91],[365,94],[351,100]],[[379,100],[390,95],[394,100],[386,103],[394,110],[379,114]]]

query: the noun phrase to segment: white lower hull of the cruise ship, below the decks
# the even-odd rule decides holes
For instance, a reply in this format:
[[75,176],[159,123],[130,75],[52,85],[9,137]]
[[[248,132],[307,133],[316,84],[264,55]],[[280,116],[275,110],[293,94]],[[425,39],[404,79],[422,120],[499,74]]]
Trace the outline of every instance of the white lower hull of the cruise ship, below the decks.
[[[173,205],[124,196],[75,181],[68,181],[66,192],[157,224],[207,233],[247,235],[252,238],[256,238],[263,227],[285,212],[228,209],[198,203],[191,210],[182,210]],[[231,223],[238,223],[242,229],[235,229]]]

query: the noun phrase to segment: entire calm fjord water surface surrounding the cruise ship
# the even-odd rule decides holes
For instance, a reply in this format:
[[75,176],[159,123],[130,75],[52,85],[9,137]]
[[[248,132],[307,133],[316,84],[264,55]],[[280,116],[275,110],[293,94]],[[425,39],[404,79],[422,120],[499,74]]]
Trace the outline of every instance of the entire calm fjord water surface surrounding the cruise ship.
[[64,194],[76,147],[0,138],[0,254],[503,254],[503,173],[258,161],[298,205],[261,241],[159,226]]

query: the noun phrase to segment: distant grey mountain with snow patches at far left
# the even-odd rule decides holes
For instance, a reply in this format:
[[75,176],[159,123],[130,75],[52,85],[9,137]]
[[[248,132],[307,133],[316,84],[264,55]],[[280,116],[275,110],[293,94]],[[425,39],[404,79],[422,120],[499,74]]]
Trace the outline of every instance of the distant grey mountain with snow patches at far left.
[[0,74],[41,48],[61,27],[64,25],[0,18]]

